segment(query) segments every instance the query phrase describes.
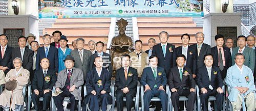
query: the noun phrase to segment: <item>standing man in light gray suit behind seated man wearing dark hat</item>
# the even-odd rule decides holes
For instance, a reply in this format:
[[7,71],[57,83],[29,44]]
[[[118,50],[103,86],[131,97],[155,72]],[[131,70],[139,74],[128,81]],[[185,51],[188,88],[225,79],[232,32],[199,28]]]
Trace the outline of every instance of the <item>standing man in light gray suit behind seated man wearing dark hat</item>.
[[79,68],[83,72],[83,79],[86,81],[86,74],[89,72],[89,66],[90,66],[90,57],[92,55],[92,52],[83,49],[84,47],[84,39],[78,38],[76,39],[76,46],[77,49],[74,49],[71,51],[71,56],[74,58],[75,66],[76,68]]

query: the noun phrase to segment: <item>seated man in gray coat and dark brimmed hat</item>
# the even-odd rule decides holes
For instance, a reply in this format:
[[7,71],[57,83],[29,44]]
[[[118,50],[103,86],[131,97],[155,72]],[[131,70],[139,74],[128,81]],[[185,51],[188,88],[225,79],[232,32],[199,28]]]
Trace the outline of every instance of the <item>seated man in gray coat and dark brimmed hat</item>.
[[82,99],[78,88],[83,85],[83,74],[81,69],[74,67],[75,60],[72,56],[68,55],[64,62],[66,69],[58,73],[55,83],[56,91],[61,90],[62,93],[53,99],[58,110],[62,111],[64,98],[70,97],[70,110],[75,110],[78,100]]

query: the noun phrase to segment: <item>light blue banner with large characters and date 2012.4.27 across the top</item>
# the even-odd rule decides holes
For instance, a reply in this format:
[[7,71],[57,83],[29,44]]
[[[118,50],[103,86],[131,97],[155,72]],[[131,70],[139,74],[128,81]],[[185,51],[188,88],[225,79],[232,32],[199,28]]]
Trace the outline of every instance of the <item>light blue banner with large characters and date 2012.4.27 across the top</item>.
[[39,18],[202,17],[202,0],[38,0]]

